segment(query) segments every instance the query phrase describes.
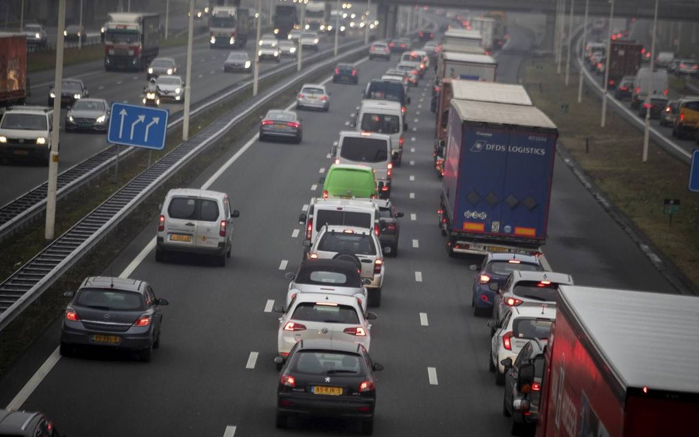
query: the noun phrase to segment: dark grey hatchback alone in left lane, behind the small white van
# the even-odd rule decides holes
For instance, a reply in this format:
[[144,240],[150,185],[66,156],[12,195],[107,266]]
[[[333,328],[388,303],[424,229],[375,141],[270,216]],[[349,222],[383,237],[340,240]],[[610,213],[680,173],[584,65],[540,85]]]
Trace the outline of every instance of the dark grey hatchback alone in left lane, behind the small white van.
[[73,301],[66,306],[62,329],[62,355],[70,356],[75,346],[106,346],[140,352],[150,361],[160,345],[161,306],[153,289],[142,280],[92,276],[82,281],[77,292],[65,292]]

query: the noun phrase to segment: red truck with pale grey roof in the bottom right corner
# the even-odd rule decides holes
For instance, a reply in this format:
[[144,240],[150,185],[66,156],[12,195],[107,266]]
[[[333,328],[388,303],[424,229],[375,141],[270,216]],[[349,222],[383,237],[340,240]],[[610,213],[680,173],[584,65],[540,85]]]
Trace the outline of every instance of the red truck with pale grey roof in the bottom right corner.
[[537,437],[697,436],[699,298],[561,286]]

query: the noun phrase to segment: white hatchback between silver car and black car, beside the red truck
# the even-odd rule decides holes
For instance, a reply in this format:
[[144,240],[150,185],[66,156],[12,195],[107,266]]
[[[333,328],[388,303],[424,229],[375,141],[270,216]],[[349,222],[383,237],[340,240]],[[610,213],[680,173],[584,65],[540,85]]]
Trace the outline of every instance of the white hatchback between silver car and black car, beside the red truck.
[[495,372],[497,385],[505,383],[505,366],[503,359],[517,359],[517,354],[528,341],[538,338],[548,340],[551,325],[556,320],[556,308],[543,304],[540,306],[513,307],[499,324],[489,320],[488,326],[496,332],[491,339],[489,369]]

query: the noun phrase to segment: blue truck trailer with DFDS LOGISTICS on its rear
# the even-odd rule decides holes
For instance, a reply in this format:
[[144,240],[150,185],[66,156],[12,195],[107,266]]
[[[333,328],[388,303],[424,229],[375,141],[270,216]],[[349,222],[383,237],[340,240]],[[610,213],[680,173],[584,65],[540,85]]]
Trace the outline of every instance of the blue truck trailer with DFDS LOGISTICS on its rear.
[[534,106],[452,99],[440,199],[447,253],[539,253],[558,129]]

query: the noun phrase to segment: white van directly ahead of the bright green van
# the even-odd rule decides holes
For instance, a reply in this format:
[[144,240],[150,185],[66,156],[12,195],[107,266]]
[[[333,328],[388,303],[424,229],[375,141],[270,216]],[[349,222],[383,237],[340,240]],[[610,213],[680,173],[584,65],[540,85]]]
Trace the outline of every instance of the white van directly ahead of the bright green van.
[[382,199],[389,198],[393,173],[390,136],[373,132],[340,131],[338,145],[333,146],[331,155],[335,156],[335,164],[371,167],[379,196]]

